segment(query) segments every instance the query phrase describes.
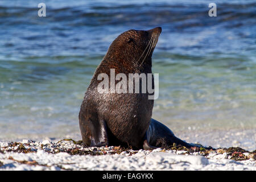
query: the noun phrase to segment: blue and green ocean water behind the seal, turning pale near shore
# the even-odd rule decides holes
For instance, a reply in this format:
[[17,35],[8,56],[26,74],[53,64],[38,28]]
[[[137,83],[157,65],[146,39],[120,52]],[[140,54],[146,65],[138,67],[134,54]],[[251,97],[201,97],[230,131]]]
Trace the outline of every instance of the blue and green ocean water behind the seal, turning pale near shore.
[[181,135],[250,130],[255,149],[256,1],[214,1],[217,17],[210,2],[1,0],[0,140],[80,136],[84,92],[112,41],[160,26],[152,118]]

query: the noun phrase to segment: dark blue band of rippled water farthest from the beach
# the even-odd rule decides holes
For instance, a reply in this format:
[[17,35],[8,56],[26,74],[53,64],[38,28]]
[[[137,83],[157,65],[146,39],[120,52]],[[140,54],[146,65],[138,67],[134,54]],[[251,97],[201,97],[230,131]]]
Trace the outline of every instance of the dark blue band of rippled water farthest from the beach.
[[[105,4],[106,5],[106,4]],[[208,4],[171,4],[171,3],[145,3],[132,5],[90,5],[89,7],[47,7],[46,22],[65,22],[69,26],[151,26],[151,24],[173,23],[177,29],[188,27],[209,26],[214,23],[233,22],[242,24],[255,24],[256,3],[247,4],[217,4],[217,18],[209,18]],[[36,8],[5,7],[0,6],[0,22],[5,24],[40,23]],[[34,18],[32,18],[32,17]],[[23,19],[16,21],[15,18]],[[9,18],[6,22],[5,18]],[[13,18],[13,19],[11,19]],[[36,19],[37,18],[37,19]],[[234,21],[237,21],[236,23]],[[244,20],[244,21],[243,21]],[[228,24],[230,26],[230,24]]]

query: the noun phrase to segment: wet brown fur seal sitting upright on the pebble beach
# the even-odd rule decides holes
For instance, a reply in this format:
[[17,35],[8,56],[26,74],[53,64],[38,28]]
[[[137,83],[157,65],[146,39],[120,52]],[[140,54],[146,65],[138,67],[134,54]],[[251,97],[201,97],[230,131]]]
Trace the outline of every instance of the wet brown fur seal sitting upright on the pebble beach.
[[[152,74],[151,56],[161,32],[161,27],[147,31],[129,30],[112,42],[96,68],[81,104],[79,126],[85,146],[121,145],[148,150],[175,142],[191,147],[176,138],[168,127],[151,119],[154,100],[149,100],[150,93],[142,93],[142,88],[133,94],[100,93],[97,90],[101,82],[98,76],[104,73],[110,78],[110,69],[127,77],[129,73]],[[154,80],[151,84],[154,88]]]

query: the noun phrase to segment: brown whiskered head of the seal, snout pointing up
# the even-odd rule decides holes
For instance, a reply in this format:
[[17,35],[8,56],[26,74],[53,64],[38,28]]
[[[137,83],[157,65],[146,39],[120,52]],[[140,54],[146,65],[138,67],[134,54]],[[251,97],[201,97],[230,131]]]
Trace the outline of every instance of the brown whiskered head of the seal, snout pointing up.
[[133,65],[141,67],[142,64],[151,65],[151,56],[158,37],[162,32],[161,27],[151,30],[129,30],[119,35],[110,45],[105,58],[125,62],[130,61]]

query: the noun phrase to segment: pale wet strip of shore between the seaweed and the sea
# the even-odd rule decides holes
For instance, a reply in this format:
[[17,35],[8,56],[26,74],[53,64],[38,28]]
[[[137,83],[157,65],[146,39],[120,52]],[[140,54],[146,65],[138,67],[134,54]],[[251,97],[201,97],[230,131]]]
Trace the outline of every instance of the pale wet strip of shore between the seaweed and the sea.
[[[168,125],[170,129],[172,127]],[[213,148],[220,147],[241,147],[247,151],[254,151],[256,149],[255,140],[256,134],[254,127],[252,129],[213,129],[209,131],[174,131],[176,137],[185,140],[188,143],[200,143],[203,146],[212,146]],[[22,141],[23,139],[30,139],[38,142],[49,140],[51,142],[59,141],[63,138],[72,138],[74,140],[81,140],[80,131],[72,131],[71,133],[47,133],[42,135],[14,135],[14,136],[0,136],[0,142]]]

